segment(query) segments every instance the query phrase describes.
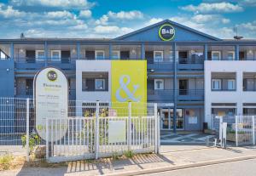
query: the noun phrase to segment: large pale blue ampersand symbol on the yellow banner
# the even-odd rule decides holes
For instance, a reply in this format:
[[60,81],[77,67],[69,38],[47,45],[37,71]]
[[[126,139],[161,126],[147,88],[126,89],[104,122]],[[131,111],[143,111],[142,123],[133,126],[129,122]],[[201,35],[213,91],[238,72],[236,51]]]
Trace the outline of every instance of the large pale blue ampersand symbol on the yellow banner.
[[[124,81],[125,79],[127,80],[126,82]],[[116,96],[116,99],[118,99],[120,102],[125,102],[128,99],[135,101],[135,102],[140,101],[141,96],[139,96],[137,98],[134,97],[134,94],[137,91],[137,89],[139,88],[139,85],[133,85],[133,91],[131,92],[129,90],[129,88],[127,88],[127,86],[129,85],[130,82],[131,82],[131,79],[128,75],[123,75],[119,78],[120,88],[116,91],[115,96]],[[127,97],[125,97],[125,98],[121,97],[121,95],[120,95],[120,91],[122,89],[125,91],[125,94],[127,95]]]

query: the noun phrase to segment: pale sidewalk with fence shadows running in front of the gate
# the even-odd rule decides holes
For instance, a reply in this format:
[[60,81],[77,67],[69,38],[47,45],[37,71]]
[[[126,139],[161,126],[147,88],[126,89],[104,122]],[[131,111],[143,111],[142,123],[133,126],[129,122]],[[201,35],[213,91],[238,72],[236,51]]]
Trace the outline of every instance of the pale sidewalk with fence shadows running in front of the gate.
[[[241,158],[242,157],[242,158]],[[208,148],[204,146],[161,146],[161,155],[138,155],[131,159],[111,160],[101,162],[70,162],[67,167],[22,167],[17,170],[2,171],[0,175],[126,175],[150,172],[150,169],[195,167],[256,158],[255,147],[234,147],[227,150]],[[239,159],[240,158],[240,159]],[[137,173],[136,173],[137,172]]]

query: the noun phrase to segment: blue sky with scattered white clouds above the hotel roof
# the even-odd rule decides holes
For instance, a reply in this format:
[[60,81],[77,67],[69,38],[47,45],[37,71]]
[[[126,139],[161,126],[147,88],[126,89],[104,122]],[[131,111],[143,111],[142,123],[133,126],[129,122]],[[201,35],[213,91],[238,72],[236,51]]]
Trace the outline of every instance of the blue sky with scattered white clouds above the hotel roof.
[[173,20],[214,37],[256,38],[256,0],[0,0],[0,37],[118,37]]

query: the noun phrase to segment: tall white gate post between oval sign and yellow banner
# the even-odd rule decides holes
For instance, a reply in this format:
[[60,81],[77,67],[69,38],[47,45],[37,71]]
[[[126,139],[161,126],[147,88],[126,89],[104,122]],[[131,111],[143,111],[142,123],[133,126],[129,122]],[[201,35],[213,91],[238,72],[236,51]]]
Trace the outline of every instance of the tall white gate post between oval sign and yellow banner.
[[100,102],[96,101],[96,120],[95,120],[95,158],[99,158],[99,112]]

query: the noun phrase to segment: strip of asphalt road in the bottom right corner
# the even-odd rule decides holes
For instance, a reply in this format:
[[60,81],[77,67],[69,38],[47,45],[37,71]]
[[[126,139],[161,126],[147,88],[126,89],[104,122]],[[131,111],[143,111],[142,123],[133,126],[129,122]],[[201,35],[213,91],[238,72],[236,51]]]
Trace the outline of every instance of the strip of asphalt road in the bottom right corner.
[[193,167],[163,173],[151,173],[150,176],[255,176],[256,159],[240,162],[228,162],[204,167]]

